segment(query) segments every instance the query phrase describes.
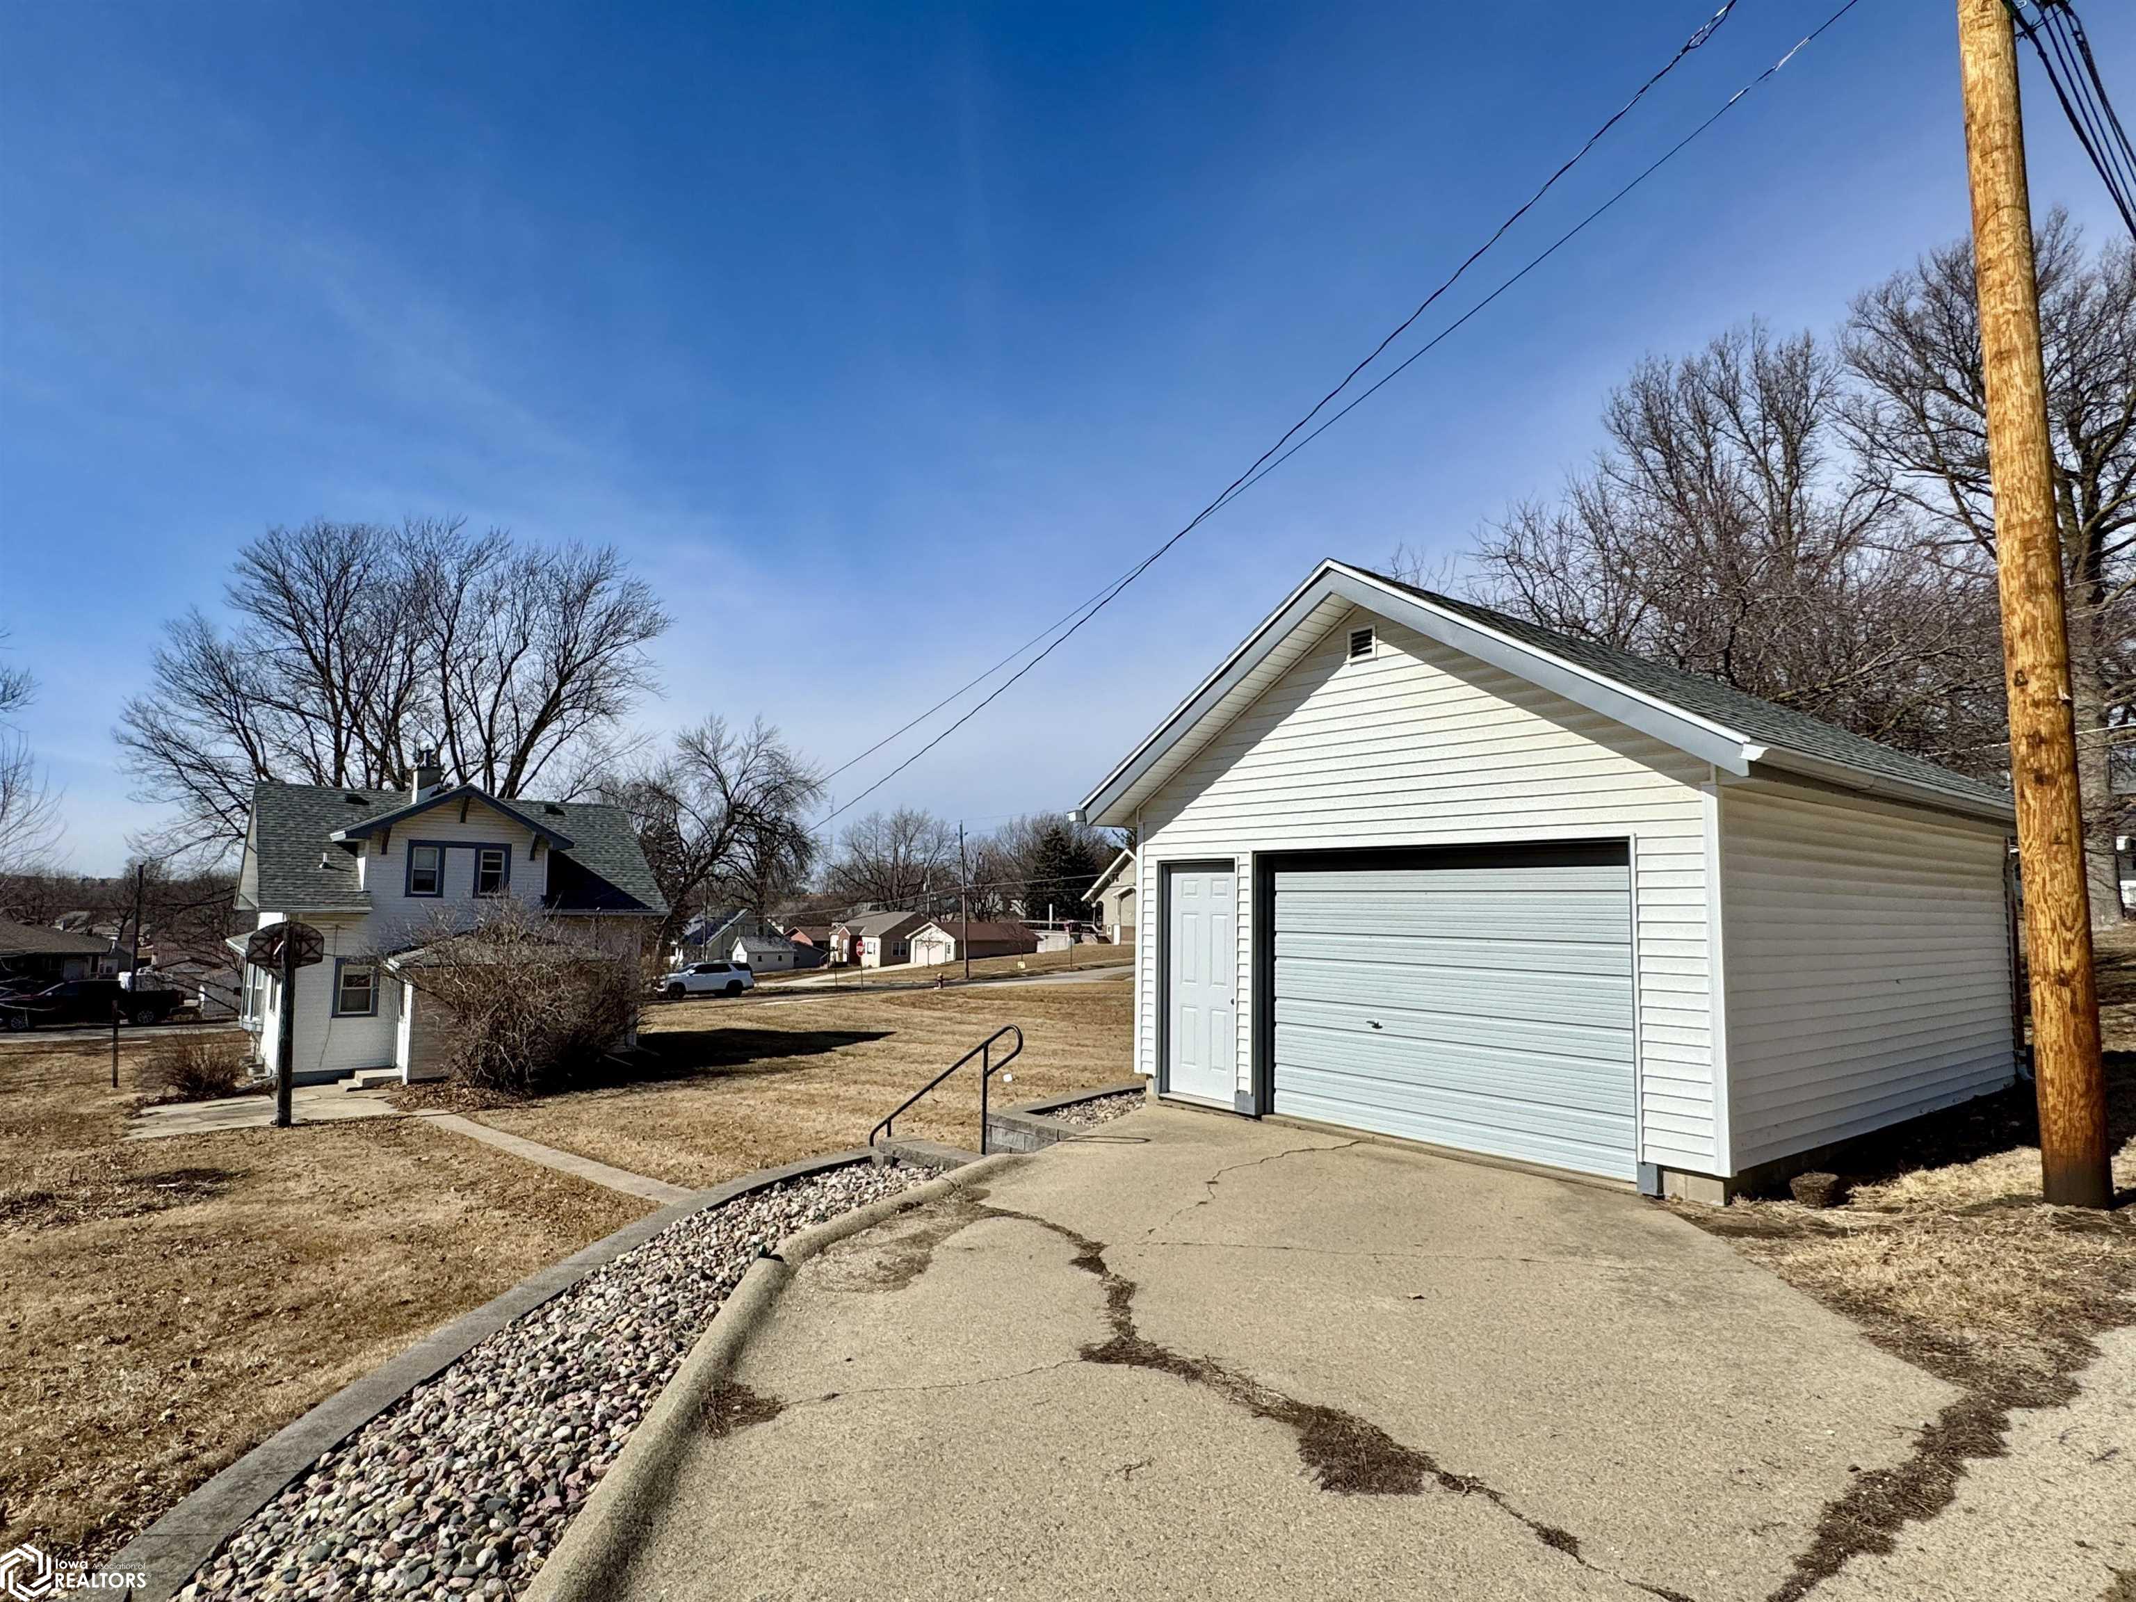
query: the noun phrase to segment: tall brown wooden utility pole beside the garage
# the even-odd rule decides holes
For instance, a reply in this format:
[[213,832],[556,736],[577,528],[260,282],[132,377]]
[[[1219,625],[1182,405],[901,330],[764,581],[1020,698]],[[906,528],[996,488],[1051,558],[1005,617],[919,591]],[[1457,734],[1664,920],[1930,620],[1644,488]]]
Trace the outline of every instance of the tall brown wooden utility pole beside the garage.
[[2091,972],[2076,711],[2055,525],[2040,286],[2019,115],[2016,32],[2006,0],[1959,0],[1965,164],[1974,192],[1974,276],[1995,481],[2010,782],[2031,963],[2031,1062],[2040,1096],[2046,1200],[2108,1207],[2100,998]]

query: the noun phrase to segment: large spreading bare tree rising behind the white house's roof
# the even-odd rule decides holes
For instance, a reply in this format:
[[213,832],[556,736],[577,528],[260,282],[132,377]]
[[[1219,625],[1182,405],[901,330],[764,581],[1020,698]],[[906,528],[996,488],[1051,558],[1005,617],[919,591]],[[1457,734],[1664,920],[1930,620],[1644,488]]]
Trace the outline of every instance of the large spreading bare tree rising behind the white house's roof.
[[244,547],[235,626],[164,626],[115,737],[139,799],[175,810],[154,854],[218,857],[261,780],[382,788],[419,745],[498,795],[585,792],[654,690],[669,626],[613,549],[517,545],[449,519],[312,521]]

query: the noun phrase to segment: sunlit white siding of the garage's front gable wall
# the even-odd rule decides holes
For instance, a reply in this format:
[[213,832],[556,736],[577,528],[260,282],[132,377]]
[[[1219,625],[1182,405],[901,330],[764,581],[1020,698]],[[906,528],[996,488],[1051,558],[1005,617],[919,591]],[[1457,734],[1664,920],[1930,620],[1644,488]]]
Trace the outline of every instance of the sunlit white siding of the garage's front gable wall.
[[[1715,1173],[1707,989],[1711,769],[1658,739],[1388,622],[1348,660],[1333,617],[1141,805],[1138,904],[1164,861],[1239,865],[1239,1087],[1252,1085],[1254,852],[1630,839],[1640,1158]],[[1156,1072],[1158,940],[1136,953],[1136,1066]]]

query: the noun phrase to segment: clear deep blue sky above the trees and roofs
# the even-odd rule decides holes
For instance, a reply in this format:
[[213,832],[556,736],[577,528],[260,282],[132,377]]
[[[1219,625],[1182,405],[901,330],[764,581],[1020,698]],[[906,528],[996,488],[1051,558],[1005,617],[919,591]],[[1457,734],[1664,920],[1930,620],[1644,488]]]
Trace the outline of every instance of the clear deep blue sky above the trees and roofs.
[[[1476,288],[1831,6],[1741,0]],[[844,763],[1171,534],[1707,11],[0,0],[0,628],[70,863],[154,816],[109,728],[158,624],[320,515],[613,540],[677,617],[649,724]],[[2036,205],[2104,233],[2027,85]],[[1828,329],[1965,222],[1950,4],[1863,0],[863,810],[1072,805],[1318,557],[1463,549],[1640,355]]]

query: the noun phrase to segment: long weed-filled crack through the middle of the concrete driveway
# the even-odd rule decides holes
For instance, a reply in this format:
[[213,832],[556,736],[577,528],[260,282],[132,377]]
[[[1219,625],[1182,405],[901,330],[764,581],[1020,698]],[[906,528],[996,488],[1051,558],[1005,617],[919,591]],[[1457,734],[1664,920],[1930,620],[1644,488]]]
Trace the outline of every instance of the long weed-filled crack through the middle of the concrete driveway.
[[[1356,1143],[1352,1141],[1350,1145]],[[1279,1151],[1275,1158],[1294,1156],[1297,1151],[1335,1149],[1339,1147],[1297,1147],[1294,1151]],[[1275,1158],[1262,1158],[1260,1162],[1273,1162]],[[1260,1164],[1252,1162],[1235,1166],[1254,1168]],[[1228,1173],[1228,1168],[1220,1171],[1220,1175],[1222,1173]],[[1215,1177],[1205,1183],[1213,1185]],[[1647,1581],[1636,1581],[1589,1561],[1581,1553],[1579,1536],[1570,1529],[1559,1529],[1557,1525],[1542,1523],[1540,1519],[1521,1512],[1497,1487],[1487,1485],[1474,1474],[1455,1474],[1452,1470],[1442,1467],[1429,1452],[1403,1446],[1367,1418],[1358,1418],[1356,1414],[1326,1408],[1322,1403],[1299,1401],[1297,1397],[1288,1397],[1260,1380],[1226,1369],[1222,1363],[1211,1358],[1190,1358],[1158,1346],[1134,1324],[1134,1292],[1138,1286],[1106,1265],[1102,1241],[1091,1241],[1087,1235],[1079,1235],[1066,1224],[1057,1224],[1051,1218],[1038,1218],[1036,1213],[1019,1213],[1008,1207],[987,1207],[985,1211],[995,1213],[998,1218],[1015,1218],[1025,1224],[1036,1224],[1038,1228],[1059,1235],[1077,1247],[1072,1258],[1074,1267],[1094,1275],[1104,1286],[1106,1322],[1111,1324],[1113,1335],[1106,1341],[1085,1346],[1079,1361],[1171,1373],[1188,1384],[1215,1391],[1220,1397],[1243,1408],[1256,1418],[1286,1425],[1297,1435],[1299,1457],[1312,1470],[1314,1480],[1322,1491],[1333,1491],[1337,1495],[1418,1495],[1427,1485],[1435,1485],[1452,1495],[1480,1495],[1493,1508],[1525,1527],[1538,1542],[1555,1553],[1564,1553],[1581,1568],[1602,1574],[1604,1579],[1613,1579],[1619,1585],[1645,1591],[1660,1602],[1692,1602],[1692,1598],[1681,1591],[1670,1591],[1664,1585],[1649,1585]]]

